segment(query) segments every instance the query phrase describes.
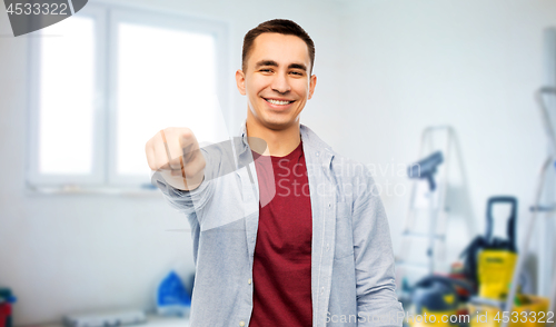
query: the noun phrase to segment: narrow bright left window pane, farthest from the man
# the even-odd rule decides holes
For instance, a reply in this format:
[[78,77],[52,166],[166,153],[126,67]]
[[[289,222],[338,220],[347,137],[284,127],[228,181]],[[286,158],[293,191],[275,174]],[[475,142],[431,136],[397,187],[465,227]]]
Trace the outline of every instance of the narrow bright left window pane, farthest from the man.
[[40,41],[39,172],[90,174],[95,113],[95,21],[72,17]]

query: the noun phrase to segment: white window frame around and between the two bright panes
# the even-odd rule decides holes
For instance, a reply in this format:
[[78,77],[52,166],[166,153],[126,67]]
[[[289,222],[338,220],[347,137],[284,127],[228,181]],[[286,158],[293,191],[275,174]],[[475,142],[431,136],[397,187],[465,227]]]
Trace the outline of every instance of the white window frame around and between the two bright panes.
[[[93,192],[93,194],[157,194],[148,176],[121,176],[117,171],[116,136],[118,116],[118,23],[130,22],[143,26],[208,33],[216,44],[216,87],[221,105],[229,103],[227,72],[229,57],[229,23],[206,18],[176,14],[152,8],[115,6],[107,2],[88,3],[76,16],[90,17],[96,21],[95,67],[95,121],[92,147],[92,172],[82,175],[39,174],[39,96],[40,96],[40,37],[29,38],[29,146],[27,166],[27,190],[44,194]],[[68,19],[71,19],[68,18]],[[37,33],[47,33],[39,30]],[[226,109],[225,109],[226,108]],[[231,109],[222,106],[226,118]],[[147,141],[147,140],[145,140]],[[147,159],[146,164],[147,165]]]

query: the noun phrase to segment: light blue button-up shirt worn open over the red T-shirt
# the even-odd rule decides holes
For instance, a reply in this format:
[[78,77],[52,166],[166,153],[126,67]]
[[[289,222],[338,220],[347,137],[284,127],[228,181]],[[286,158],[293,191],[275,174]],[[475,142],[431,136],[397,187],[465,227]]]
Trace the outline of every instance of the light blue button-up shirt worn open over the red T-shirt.
[[[308,127],[300,132],[312,212],[312,326],[401,326],[388,220],[370,171]],[[259,191],[245,123],[239,138],[201,151],[206,179],[197,189],[176,189],[159,172],[151,181],[191,226],[190,326],[248,326]]]

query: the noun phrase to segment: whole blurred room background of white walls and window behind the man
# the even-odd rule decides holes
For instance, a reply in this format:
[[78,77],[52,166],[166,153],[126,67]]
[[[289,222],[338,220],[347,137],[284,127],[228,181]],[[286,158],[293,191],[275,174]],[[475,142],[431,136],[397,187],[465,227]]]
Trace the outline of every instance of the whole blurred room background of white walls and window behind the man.
[[[242,38],[274,18],[314,39],[317,87],[301,122],[373,170],[396,252],[419,207],[406,167],[424,156],[421,132],[439,125],[453,128],[458,152],[439,184],[449,210],[437,270],[484,234],[489,197],[517,198],[524,241],[554,150],[534,96],[556,82],[555,1],[92,0],[17,38],[0,10],[0,287],[17,296],[16,326],[153,310],[168,271],[188,280],[189,225],[149,187],[145,143],[166,127],[208,142],[235,135],[247,108],[235,83]],[[508,212],[496,211],[496,235]],[[554,227],[535,229],[537,261],[554,257]],[[553,262],[532,270],[544,285],[534,291],[549,296]]]

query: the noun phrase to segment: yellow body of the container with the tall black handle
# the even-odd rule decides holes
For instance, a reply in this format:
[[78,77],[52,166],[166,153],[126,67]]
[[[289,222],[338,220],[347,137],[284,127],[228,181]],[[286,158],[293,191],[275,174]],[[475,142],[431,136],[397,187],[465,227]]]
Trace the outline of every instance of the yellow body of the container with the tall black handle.
[[508,250],[483,250],[478,255],[479,297],[506,298],[516,260],[517,255]]

